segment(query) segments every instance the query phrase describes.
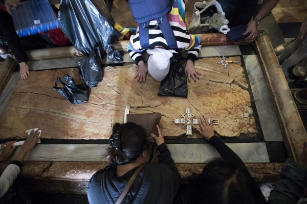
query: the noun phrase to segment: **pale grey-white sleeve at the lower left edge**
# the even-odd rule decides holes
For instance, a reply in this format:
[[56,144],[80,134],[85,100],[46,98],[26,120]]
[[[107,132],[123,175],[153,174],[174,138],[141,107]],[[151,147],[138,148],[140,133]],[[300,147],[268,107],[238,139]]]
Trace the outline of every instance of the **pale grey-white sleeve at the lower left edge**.
[[19,173],[20,168],[16,164],[10,164],[4,169],[0,176],[0,198],[8,192]]

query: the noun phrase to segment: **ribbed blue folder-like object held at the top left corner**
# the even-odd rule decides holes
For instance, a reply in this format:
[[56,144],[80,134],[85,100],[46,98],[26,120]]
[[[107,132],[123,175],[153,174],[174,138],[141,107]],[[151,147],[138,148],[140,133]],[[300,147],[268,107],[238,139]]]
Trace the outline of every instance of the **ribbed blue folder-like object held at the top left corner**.
[[59,27],[48,0],[30,0],[11,8],[15,30],[19,37],[46,32]]

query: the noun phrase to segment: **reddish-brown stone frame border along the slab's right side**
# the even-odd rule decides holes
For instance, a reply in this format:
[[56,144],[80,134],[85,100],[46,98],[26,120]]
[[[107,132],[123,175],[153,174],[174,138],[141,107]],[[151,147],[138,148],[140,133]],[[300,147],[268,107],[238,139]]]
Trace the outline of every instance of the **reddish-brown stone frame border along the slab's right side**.
[[307,133],[295,101],[265,32],[259,33],[254,46],[269,88],[288,155],[298,161],[303,142],[307,139]]

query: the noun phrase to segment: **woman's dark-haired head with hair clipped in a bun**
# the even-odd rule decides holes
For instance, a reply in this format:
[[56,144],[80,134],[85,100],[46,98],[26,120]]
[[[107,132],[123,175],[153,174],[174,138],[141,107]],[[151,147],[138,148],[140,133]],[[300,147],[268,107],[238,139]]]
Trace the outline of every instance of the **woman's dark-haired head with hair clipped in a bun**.
[[146,157],[147,138],[145,129],[136,123],[116,123],[109,138],[106,156],[117,165],[134,162],[141,155]]

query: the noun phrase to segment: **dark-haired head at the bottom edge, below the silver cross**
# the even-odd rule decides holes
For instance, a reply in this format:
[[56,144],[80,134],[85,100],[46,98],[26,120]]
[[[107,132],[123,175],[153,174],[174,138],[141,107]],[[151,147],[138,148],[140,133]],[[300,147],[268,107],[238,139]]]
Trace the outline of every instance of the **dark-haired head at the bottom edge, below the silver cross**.
[[189,203],[266,203],[252,177],[238,169],[235,164],[222,159],[208,163],[203,172],[189,182]]

